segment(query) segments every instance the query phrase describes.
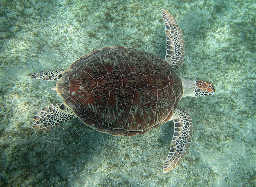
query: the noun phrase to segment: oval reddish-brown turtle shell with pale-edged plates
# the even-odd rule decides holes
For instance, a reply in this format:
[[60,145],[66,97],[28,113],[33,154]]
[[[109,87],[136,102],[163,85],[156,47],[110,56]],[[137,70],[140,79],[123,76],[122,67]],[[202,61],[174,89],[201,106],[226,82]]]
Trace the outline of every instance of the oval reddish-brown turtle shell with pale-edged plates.
[[56,90],[86,125],[117,136],[143,134],[169,121],[183,93],[164,59],[121,46],[76,60]]

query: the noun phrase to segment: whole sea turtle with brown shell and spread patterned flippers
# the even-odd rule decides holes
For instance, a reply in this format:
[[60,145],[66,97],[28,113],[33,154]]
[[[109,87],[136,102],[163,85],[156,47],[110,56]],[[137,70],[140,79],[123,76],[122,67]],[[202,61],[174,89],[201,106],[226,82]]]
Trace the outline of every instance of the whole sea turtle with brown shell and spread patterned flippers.
[[173,120],[174,134],[164,163],[173,169],[188,153],[192,119],[177,105],[182,97],[213,95],[209,81],[177,75],[184,60],[182,31],[162,10],[167,50],[165,59],[121,46],[104,47],[76,60],[67,70],[40,71],[32,79],[59,80],[63,103],[51,104],[34,116],[32,128],[49,130],[79,117],[86,125],[115,136],[144,134]]

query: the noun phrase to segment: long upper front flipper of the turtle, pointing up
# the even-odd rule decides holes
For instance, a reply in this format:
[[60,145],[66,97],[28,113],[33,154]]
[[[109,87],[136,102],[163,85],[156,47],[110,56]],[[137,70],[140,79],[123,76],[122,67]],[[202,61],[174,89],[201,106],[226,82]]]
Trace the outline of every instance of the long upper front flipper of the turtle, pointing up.
[[182,65],[185,55],[182,30],[173,16],[166,10],[162,10],[162,18],[164,20],[167,43],[165,61],[176,70]]

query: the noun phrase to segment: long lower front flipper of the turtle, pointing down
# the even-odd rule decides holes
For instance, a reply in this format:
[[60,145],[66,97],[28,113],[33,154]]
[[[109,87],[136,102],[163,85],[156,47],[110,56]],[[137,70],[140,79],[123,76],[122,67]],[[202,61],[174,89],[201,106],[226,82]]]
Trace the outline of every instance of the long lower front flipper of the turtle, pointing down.
[[164,162],[164,173],[171,171],[186,156],[193,132],[192,119],[187,112],[176,109],[172,120],[174,122],[174,134],[170,152]]

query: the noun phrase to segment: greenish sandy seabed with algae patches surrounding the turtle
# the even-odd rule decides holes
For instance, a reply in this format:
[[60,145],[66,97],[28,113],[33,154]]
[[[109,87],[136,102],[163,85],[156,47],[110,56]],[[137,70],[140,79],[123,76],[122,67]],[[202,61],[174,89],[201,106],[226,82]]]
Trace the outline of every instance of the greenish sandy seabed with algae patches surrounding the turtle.
[[[40,108],[62,102],[39,70],[66,69],[103,46],[164,57],[161,9],[183,31],[185,78],[212,81],[211,97],[183,98],[194,123],[188,156],[164,174],[173,123],[136,137],[79,119],[31,129]],[[256,4],[252,0],[0,2],[0,186],[256,186]]]

